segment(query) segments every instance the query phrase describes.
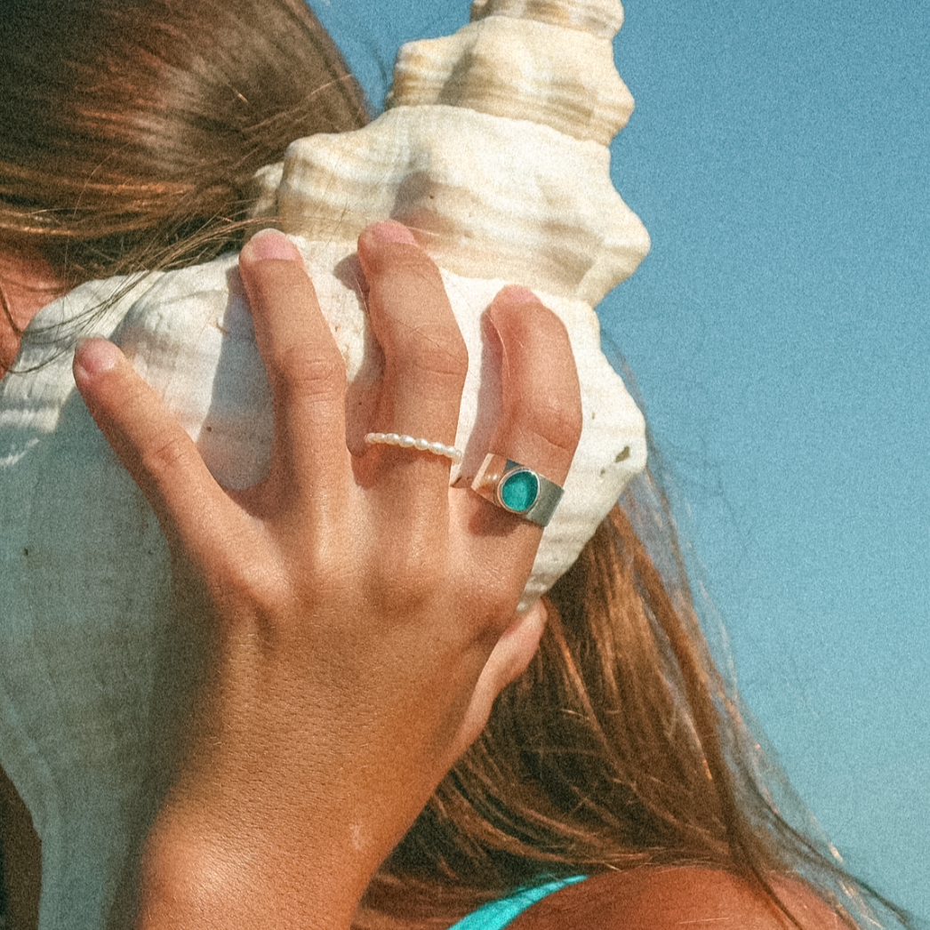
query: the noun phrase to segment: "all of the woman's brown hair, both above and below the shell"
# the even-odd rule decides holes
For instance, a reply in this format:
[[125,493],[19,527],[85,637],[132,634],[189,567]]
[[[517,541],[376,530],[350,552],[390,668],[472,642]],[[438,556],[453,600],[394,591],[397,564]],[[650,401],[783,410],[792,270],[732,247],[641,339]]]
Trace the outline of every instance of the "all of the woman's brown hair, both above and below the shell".
[[[0,96],[0,242],[41,249],[73,281],[237,245],[256,168],[365,121],[303,0],[14,6],[0,22],[0,73],[15,76]],[[443,926],[547,877],[684,863],[773,898],[772,876],[798,877],[851,924],[870,917],[866,898],[904,920],[779,812],[787,783],[713,661],[649,474],[549,608],[538,657],[371,883],[360,927]]]

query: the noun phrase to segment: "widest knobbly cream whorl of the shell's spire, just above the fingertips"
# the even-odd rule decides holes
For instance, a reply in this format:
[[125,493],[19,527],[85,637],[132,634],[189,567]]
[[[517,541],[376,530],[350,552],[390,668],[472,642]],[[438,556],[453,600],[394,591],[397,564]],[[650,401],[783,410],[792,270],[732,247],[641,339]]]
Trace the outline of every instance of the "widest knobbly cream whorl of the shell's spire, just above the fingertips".
[[[444,146],[446,133],[460,144]],[[362,140],[364,152],[352,154]],[[475,147],[485,142],[497,154],[476,165]],[[538,153],[528,171],[525,150]],[[422,245],[452,271],[590,303],[646,251],[642,223],[611,182],[609,151],[551,126],[447,104],[398,107],[349,137],[301,140],[289,153],[282,229],[338,239],[350,251],[368,222],[392,217],[423,231]],[[565,274],[573,255],[597,271]],[[597,287],[581,287],[585,278]]]

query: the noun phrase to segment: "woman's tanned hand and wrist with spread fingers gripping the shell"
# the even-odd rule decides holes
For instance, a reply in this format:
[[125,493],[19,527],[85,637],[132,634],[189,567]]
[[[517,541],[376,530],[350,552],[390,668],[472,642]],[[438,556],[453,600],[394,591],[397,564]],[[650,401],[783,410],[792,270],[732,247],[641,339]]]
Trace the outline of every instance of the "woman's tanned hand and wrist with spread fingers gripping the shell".
[[[455,440],[467,352],[439,273],[396,223],[362,234],[385,355],[375,432]],[[240,270],[274,401],[268,478],[217,485],[110,343],[75,355],[100,429],[172,552],[204,644],[184,750],[140,875],[140,927],[348,927],[365,884],[538,644],[516,618],[541,530],[429,453],[346,447],[345,367],[279,233]],[[580,433],[558,319],[508,288],[492,448],[562,484]]]

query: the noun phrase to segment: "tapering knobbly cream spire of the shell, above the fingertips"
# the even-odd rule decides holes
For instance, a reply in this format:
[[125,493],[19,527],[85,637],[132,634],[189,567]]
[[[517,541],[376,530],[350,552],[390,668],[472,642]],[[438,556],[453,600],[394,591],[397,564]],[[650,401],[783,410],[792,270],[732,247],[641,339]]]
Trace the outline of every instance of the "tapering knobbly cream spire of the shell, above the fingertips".
[[391,217],[450,271],[595,305],[649,249],[610,179],[633,108],[622,21],[617,0],[477,0],[458,33],[401,49],[379,119],[266,169],[263,210],[347,242]]

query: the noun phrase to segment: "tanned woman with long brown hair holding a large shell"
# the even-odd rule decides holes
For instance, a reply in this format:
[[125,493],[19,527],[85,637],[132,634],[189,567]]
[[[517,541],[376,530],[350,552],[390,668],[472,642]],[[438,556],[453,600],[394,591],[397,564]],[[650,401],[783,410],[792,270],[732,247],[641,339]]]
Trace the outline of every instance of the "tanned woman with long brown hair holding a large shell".
[[[296,136],[361,119],[363,102],[310,14],[299,4],[259,7],[91,3],[52,19],[31,4],[5,21],[4,71],[19,78],[2,129],[7,364],[49,295],[237,245],[255,168]],[[194,46],[190,35],[211,41]],[[314,69],[322,80],[308,97],[303,75]],[[389,345],[405,314],[445,320],[451,362],[441,389],[402,377],[416,370],[404,359],[417,347],[400,340],[385,396],[394,414],[414,419],[392,425],[450,442],[461,360],[430,263],[395,226],[365,233],[359,249]],[[377,449],[354,466],[358,484],[376,489],[378,503],[365,506],[381,508],[382,532],[402,527],[410,551],[436,553],[432,577],[389,578],[384,565],[372,574],[370,556],[353,548],[359,540],[337,539],[326,525],[327,512],[362,507],[349,502],[338,365],[286,241],[253,241],[241,268],[278,389],[277,467],[266,485],[227,498],[118,354],[94,341],[75,358],[88,406],[162,521],[181,613],[219,644],[216,664],[200,671],[187,751],[132,897],[113,919],[138,904],[140,925],[151,927],[347,926],[365,892],[359,925],[448,926],[514,889],[587,874],[596,877],[547,898],[521,925],[853,925],[847,877],[785,823],[763,788],[761,760],[700,635],[657,487],[635,488],[551,592],[531,658],[542,611],[505,628],[537,531],[471,497],[446,505],[443,462]],[[527,312],[537,326],[518,332]],[[500,447],[558,480],[577,434],[564,337],[523,292],[503,293],[491,315],[512,361],[513,409],[531,421],[505,417]],[[535,380],[542,376],[551,381]],[[437,394],[435,409],[424,405]],[[547,394],[558,403],[534,423],[533,399]],[[545,441],[553,424],[548,438],[561,443]],[[321,433],[328,443],[308,442]],[[298,520],[283,518],[284,498],[305,502]],[[329,511],[321,499],[333,501]],[[438,542],[423,536],[415,515],[446,506],[445,533]],[[485,522],[480,533],[469,518]],[[235,542],[243,534],[245,550]],[[464,615],[462,576],[444,561],[457,546],[466,547],[458,572],[464,565],[468,578],[494,582],[469,586]],[[308,562],[312,590],[298,583]],[[496,565],[508,565],[505,578]],[[368,577],[374,590],[359,580]],[[316,618],[313,650],[295,630],[298,607]],[[448,614],[462,632],[452,642],[437,626]],[[371,627],[388,631],[375,654],[365,642]],[[396,658],[379,662],[385,655]],[[526,666],[369,883],[478,736],[498,690]],[[445,699],[431,707],[425,696],[437,693]],[[230,732],[233,740],[216,738]],[[294,751],[307,746],[314,751]],[[305,790],[295,794],[295,785]],[[34,876],[25,884],[34,891]]]

